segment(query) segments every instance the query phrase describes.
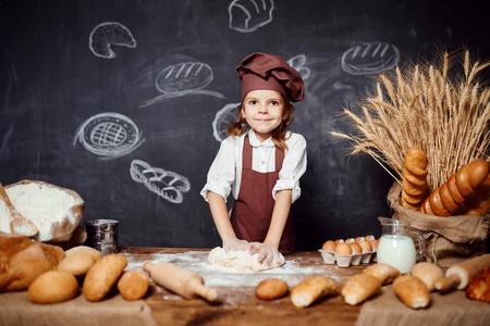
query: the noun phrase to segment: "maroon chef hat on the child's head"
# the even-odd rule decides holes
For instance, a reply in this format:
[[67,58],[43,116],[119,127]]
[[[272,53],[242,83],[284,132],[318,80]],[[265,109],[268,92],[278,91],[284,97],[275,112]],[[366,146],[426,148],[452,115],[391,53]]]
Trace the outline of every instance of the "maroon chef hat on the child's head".
[[291,102],[303,101],[305,87],[299,73],[279,55],[252,53],[236,67],[242,79],[242,101],[252,90],[279,91]]

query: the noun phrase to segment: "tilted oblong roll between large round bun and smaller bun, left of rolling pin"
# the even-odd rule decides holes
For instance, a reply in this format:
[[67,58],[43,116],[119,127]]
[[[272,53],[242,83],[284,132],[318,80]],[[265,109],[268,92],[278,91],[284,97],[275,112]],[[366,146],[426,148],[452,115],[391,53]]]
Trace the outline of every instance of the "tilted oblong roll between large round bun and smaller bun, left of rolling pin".
[[88,301],[102,300],[121,277],[126,265],[126,258],[119,253],[106,255],[95,263],[85,275],[83,286],[85,298]]

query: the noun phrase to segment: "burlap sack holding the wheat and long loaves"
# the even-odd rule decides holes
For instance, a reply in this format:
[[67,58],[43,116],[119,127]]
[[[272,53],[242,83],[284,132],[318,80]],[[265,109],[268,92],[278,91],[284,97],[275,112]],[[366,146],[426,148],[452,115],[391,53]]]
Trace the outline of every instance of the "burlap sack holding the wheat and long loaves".
[[394,210],[392,218],[407,221],[425,239],[424,253],[428,262],[442,268],[474,255],[487,253],[485,240],[489,235],[490,214],[441,217],[406,209],[401,204],[402,186],[394,183],[388,202]]

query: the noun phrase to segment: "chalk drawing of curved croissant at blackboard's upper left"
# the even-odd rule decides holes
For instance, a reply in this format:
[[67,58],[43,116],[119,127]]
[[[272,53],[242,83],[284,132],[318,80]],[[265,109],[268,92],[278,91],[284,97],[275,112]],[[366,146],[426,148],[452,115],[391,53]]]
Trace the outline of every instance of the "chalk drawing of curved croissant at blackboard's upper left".
[[90,51],[100,58],[114,59],[115,52],[111,46],[136,48],[136,40],[130,29],[117,22],[97,25],[88,38]]

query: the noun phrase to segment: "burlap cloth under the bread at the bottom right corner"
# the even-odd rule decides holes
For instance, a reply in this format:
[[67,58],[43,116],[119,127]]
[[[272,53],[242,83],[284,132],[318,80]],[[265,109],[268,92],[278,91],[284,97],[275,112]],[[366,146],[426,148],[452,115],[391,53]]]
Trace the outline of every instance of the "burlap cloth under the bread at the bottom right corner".
[[363,303],[356,326],[490,325],[490,303],[467,299],[464,291],[430,297],[428,308],[414,310],[400,301],[393,286],[384,286],[381,294]]

